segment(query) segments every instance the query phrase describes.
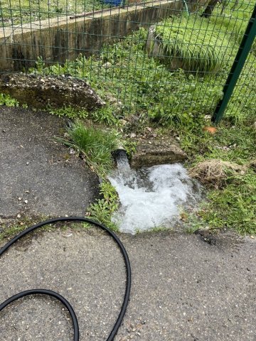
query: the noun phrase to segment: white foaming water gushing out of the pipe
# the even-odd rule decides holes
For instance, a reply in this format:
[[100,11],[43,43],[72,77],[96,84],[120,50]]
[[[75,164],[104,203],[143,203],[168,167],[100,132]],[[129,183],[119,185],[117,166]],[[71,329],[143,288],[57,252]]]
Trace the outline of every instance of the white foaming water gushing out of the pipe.
[[113,217],[121,232],[173,227],[182,210],[194,207],[202,197],[201,186],[189,178],[181,164],[135,171],[129,167],[124,151],[117,155],[117,170],[109,180],[121,202]]

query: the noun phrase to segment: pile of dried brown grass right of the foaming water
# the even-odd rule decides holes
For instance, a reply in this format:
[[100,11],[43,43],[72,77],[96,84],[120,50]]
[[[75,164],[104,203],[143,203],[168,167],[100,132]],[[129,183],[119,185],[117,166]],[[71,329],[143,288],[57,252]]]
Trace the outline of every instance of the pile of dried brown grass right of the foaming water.
[[237,163],[222,161],[218,159],[203,161],[191,168],[189,174],[197,178],[201,183],[206,183],[214,188],[221,188],[225,185],[230,176],[244,174],[245,166]]

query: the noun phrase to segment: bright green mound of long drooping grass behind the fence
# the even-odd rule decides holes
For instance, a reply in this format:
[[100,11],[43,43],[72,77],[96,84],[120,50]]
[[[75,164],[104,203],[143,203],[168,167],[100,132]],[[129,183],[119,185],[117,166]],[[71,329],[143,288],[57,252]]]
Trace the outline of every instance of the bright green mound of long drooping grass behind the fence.
[[175,16],[156,26],[163,53],[179,58],[187,70],[207,72],[218,69],[229,51],[229,41],[215,31],[206,18]]

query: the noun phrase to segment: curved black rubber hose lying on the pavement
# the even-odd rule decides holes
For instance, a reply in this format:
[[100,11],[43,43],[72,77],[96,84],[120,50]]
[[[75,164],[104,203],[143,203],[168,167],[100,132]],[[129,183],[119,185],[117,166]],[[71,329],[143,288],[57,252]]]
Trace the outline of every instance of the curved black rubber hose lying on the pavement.
[[[106,340],[106,341],[112,341],[114,339],[114,335],[117,334],[117,330],[119,329],[119,326],[122,323],[122,319],[124,318],[125,310],[127,309],[127,305],[128,305],[128,302],[129,302],[129,294],[130,294],[130,291],[131,291],[132,273],[131,273],[131,266],[130,266],[130,263],[129,263],[129,258],[128,258],[126,249],[124,249],[124,245],[119,240],[117,235],[114,234],[114,232],[112,232],[110,229],[105,227],[105,225],[100,224],[98,222],[95,222],[94,220],[90,220],[90,219],[84,218],[84,217],[60,217],[60,218],[46,220],[44,222],[39,222],[36,225],[28,227],[23,232],[18,234],[16,237],[11,239],[10,242],[5,244],[4,247],[2,247],[0,249],[0,256],[2,254],[4,254],[4,252],[7,249],[9,249],[9,247],[11,247],[11,245],[14,244],[18,239],[21,239],[21,237],[25,236],[26,234],[28,234],[29,232],[33,231],[34,229],[38,229],[39,227],[42,227],[42,226],[47,225],[47,224],[53,224],[55,222],[70,222],[70,221],[89,222],[90,224],[93,224],[96,227],[99,227],[100,229],[103,229],[108,234],[110,234],[110,236],[114,239],[114,241],[117,243],[119,249],[121,250],[122,256],[124,257],[124,263],[125,263],[126,273],[127,273],[126,289],[125,289],[125,293],[124,293],[124,301],[122,303],[122,308],[120,310],[119,316],[118,316],[116,322],[114,323],[114,327],[113,327],[112,331],[110,332],[109,337],[107,337],[107,340]],[[32,289],[32,290],[28,290],[28,291],[22,291],[21,293],[17,293],[16,295],[12,296],[11,298],[8,298],[6,301],[1,303],[1,305],[0,305],[0,312],[7,305],[9,305],[11,302],[14,302],[14,301],[18,300],[18,298],[22,298],[22,297],[28,296],[28,295],[35,295],[35,294],[37,294],[37,295],[38,294],[40,294],[40,295],[43,294],[43,295],[53,296],[54,298],[57,298],[61,303],[63,303],[63,305],[65,305],[65,307],[68,309],[68,312],[70,313],[70,316],[71,316],[72,321],[73,321],[73,328],[74,328],[74,338],[73,338],[73,340],[74,341],[79,341],[78,319],[77,319],[77,317],[75,315],[75,311],[73,310],[73,308],[70,305],[70,303],[68,303],[68,301],[63,296],[60,296],[58,293],[55,293],[54,291],[45,290],[45,289]]]

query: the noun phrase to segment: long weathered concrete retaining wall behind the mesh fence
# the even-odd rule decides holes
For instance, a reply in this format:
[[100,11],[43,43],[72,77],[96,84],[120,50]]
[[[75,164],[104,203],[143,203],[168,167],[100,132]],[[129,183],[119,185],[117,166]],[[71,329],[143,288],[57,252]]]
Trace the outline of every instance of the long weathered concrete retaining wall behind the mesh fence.
[[0,72],[33,66],[38,56],[48,63],[65,63],[79,53],[93,55],[103,44],[113,43],[139,27],[147,28],[181,9],[182,0],[160,0],[83,18],[61,17],[1,28]]

